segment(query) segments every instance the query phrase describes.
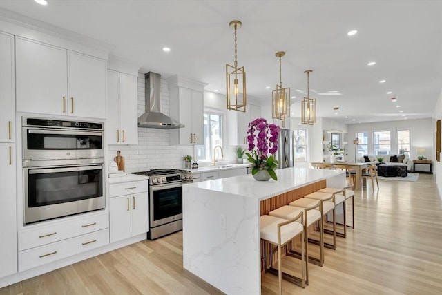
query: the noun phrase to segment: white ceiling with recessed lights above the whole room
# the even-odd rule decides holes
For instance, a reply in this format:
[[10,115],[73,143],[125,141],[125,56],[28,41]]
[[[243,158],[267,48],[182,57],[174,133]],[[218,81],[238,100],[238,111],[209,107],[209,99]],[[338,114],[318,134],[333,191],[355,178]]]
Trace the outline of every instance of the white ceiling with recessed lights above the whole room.
[[[141,72],[188,77],[219,93],[225,93],[225,64],[234,61],[229,22],[238,19],[247,94],[270,106],[279,84],[275,53],[285,51],[282,85],[296,96],[293,117],[300,117],[307,69],[313,70],[310,97],[317,99],[318,116],[346,124],[432,117],[441,93],[441,0],[47,1],[0,0],[0,14],[97,39]],[[349,30],[358,33],[349,37]],[[321,94],[330,91],[341,95]]]

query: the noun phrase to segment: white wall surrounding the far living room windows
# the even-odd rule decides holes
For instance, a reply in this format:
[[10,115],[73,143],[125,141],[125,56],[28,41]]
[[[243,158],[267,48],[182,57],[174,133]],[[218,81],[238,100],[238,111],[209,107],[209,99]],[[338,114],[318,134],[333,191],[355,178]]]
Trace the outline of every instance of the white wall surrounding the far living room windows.
[[[419,119],[419,120],[400,120],[400,121],[388,121],[388,122],[374,122],[374,123],[362,123],[362,124],[349,124],[347,133],[347,146],[349,152],[349,159],[354,159],[355,145],[352,138],[356,137],[356,132],[367,131],[392,131],[392,137],[396,137],[396,130],[410,129],[411,133],[411,151],[410,158],[412,160],[417,159],[416,148],[424,148],[425,157],[429,160],[434,159],[434,140],[433,140],[433,128],[432,119]],[[397,153],[396,146],[392,141],[391,151]]]

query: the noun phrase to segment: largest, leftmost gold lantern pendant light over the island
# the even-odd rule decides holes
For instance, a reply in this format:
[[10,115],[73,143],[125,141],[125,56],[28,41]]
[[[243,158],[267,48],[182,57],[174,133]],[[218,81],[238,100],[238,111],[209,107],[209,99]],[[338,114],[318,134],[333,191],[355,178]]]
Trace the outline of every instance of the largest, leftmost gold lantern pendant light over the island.
[[235,62],[233,66],[226,64],[227,109],[245,112],[247,104],[246,72],[244,67],[238,68],[236,61],[236,30],[241,28],[241,21],[231,21],[229,27],[235,30]]

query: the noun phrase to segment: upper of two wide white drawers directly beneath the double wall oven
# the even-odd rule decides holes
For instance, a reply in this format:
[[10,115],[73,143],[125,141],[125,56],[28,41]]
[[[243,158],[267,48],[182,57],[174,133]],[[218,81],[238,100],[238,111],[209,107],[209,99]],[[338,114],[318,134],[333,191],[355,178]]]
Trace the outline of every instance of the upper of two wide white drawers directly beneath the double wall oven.
[[109,227],[108,212],[19,231],[19,251],[66,240]]

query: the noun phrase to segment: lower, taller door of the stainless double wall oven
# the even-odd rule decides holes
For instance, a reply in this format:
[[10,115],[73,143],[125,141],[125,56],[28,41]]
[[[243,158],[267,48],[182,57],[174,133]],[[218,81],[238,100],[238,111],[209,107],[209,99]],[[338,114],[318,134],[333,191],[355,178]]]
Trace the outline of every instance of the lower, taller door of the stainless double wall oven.
[[103,165],[23,168],[24,223],[104,209]]

